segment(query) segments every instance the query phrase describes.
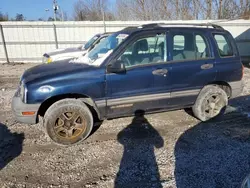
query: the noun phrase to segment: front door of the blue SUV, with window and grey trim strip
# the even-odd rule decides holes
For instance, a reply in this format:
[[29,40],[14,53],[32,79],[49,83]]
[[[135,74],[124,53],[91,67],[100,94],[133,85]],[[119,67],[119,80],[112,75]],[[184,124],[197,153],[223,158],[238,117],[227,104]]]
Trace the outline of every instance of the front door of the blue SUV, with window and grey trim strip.
[[124,62],[126,73],[107,74],[109,118],[168,105],[171,85],[165,32],[140,33],[115,60]]

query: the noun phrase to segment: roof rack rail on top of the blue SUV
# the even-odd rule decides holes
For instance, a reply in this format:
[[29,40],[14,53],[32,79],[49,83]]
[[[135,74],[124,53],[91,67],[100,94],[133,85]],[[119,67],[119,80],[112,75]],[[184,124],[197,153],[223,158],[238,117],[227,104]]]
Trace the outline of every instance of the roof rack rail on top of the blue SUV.
[[180,26],[204,26],[204,27],[213,27],[215,29],[221,29],[224,30],[223,27],[212,24],[212,23],[150,23],[150,24],[144,24],[139,26],[139,28],[155,28],[155,27],[161,27],[161,26],[171,26],[171,25],[180,25]]

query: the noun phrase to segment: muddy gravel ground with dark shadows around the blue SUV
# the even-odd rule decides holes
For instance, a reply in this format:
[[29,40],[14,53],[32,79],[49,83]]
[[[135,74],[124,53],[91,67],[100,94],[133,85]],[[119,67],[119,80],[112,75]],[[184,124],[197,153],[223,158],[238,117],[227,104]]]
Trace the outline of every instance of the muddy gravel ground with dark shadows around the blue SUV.
[[250,69],[219,120],[201,123],[184,110],[120,118],[60,147],[11,113],[19,77],[34,64],[0,66],[0,187],[228,188],[250,173]]

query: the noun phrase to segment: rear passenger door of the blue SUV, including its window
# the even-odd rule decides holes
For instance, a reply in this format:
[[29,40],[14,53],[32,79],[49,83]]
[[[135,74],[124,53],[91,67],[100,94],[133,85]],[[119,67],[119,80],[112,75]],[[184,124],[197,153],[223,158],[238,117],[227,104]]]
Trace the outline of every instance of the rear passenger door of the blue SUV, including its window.
[[216,78],[211,41],[205,32],[172,30],[169,36],[171,107],[190,106],[202,87]]

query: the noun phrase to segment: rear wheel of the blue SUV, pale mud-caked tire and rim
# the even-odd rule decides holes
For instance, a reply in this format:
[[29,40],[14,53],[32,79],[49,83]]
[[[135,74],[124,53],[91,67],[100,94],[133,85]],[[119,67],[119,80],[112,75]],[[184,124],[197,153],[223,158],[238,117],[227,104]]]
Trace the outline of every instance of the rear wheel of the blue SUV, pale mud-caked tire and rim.
[[207,121],[223,115],[227,104],[226,92],[218,86],[208,85],[201,90],[192,110],[195,117]]

